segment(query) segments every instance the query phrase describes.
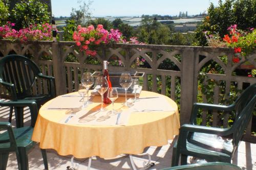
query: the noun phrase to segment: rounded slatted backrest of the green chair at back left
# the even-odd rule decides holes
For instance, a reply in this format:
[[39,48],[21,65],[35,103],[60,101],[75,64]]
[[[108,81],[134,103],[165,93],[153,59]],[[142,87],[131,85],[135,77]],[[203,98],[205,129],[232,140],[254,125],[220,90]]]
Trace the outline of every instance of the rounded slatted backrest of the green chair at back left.
[[32,86],[39,72],[38,66],[24,56],[9,55],[0,60],[0,79],[14,84],[16,89],[16,96],[11,96],[12,100],[31,95]]

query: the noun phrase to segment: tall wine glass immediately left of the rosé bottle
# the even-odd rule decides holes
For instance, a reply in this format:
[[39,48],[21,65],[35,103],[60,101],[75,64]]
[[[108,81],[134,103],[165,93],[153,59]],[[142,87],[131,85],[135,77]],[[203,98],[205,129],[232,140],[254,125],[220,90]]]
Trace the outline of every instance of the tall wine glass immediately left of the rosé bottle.
[[108,90],[109,83],[106,80],[105,77],[97,77],[95,82],[95,89],[98,91],[98,93],[101,95],[101,108],[100,111],[104,111],[106,109],[103,108],[103,94]]

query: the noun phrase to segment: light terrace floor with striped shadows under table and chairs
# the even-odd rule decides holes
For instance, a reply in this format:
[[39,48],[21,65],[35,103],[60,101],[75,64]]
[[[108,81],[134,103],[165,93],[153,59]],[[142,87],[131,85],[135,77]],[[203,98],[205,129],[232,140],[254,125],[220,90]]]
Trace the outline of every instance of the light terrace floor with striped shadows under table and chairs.
[[[8,122],[9,108],[0,107],[0,122]],[[30,125],[30,113],[29,109],[25,108],[24,114],[25,126]],[[12,125],[15,125],[15,118],[13,114]],[[170,167],[172,160],[172,141],[163,147],[148,147],[145,148],[144,152],[151,155],[153,162],[156,164],[150,169],[161,169],[165,167]],[[49,169],[66,169],[67,166],[71,165],[71,156],[60,156],[54,150],[47,150],[48,156],[48,166]],[[38,144],[28,153],[29,157],[29,169],[39,170],[44,169],[44,164],[42,162],[41,152]],[[137,167],[143,167],[143,161],[146,160],[146,156],[134,156],[134,161]],[[191,158],[188,159],[190,163]],[[79,163],[79,170],[87,169],[88,159],[75,159],[75,163]],[[194,161],[195,162],[195,161]],[[255,169],[256,170],[256,144],[244,142],[240,143],[237,154],[234,156],[233,162],[237,164],[242,169]],[[91,169],[107,170],[107,169],[131,169],[131,163],[129,156],[119,156],[118,158],[105,160],[99,157],[95,157],[92,160]],[[16,162],[15,153],[9,155],[7,169],[18,169]]]

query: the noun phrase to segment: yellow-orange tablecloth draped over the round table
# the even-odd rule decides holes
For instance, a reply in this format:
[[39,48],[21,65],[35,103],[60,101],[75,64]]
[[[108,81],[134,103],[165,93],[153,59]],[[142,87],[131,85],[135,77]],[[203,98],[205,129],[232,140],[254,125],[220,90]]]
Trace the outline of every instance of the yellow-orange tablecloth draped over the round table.
[[[149,91],[140,93],[140,97],[157,95],[163,96]],[[40,142],[41,149],[54,149],[59,155],[73,155],[76,158],[140,154],[145,147],[165,145],[168,139],[179,134],[178,107],[173,100],[164,97],[176,111],[131,113],[127,126],[60,124],[60,120],[67,116],[67,110],[46,110],[52,102],[49,101],[39,110],[32,140]],[[124,100],[124,96],[119,96],[115,107],[120,107]],[[94,96],[93,104],[89,107],[100,107],[100,96]],[[112,105],[106,107],[111,110]]]

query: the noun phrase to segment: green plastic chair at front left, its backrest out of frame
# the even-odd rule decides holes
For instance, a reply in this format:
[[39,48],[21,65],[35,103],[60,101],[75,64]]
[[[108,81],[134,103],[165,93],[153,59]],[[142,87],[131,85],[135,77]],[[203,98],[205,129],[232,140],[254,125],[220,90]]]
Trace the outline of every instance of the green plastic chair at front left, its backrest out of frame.
[[[2,102],[0,106],[18,106],[29,107],[31,115],[37,114],[37,104],[35,101]],[[0,169],[5,170],[10,152],[16,153],[18,169],[29,169],[27,151],[33,147],[35,142],[31,140],[33,127],[23,127],[12,129],[9,122],[0,122],[0,130],[6,130],[0,133]],[[48,169],[46,150],[41,149],[45,168]]]

